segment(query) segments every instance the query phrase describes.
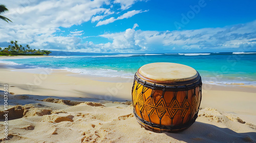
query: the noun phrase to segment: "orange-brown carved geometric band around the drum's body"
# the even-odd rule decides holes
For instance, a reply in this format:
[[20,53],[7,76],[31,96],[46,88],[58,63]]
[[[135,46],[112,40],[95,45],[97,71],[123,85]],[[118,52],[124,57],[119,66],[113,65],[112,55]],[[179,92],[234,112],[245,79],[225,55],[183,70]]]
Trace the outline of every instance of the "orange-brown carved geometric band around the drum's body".
[[[167,94],[165,95],[166,93],[165,91],[162,92],[162,95],[159,98],[159,100],[156,100],[154,99],[154,96],[156,97],[158,96],[158,94],[155,94],[155,92],[159,92],[159,89],[151,89],[152,90],[151,94],[148,95],[148,92],[147,92],[146,93],[147,95],[145,95],[145,92],[150,88],[143,86],[137,81],[135,81],[134,84],[135,85],[133,89],[134,90],[133,105],[134,107],[136,106],[138,107],[137,109],[139,109],[142,119],[145,116],[148,116],[148,120],[150,120],[148,122],[151,122],[151,117],[153,114],[155,114],[159,117],[160,125],[161,125],[161,118],[167,115],[172,120],[172,125],[173,125],[173,119],[178,114],[182,118],[182,123],[183,123],[183,118],[186,116],[188,110],[190,110],[190,113],[194,113],[195,110],[197,110],[196,107],[198,106],[198,103],[200,103],[199,100],[201,97],[201,90],[202,90],[201,86],[199,86],[199,91],[197,91],[199,92],[198,97],[196,96],[196,87],[195,87],[193,90],[193,94],[189,95],[190,100],[188,100],[188,91],[185,91],[186,96],[184,97],[182,103],[179,103],[179,101],[177,100],[177,91],[175,91],[174,97],[172,97],[172,100],[170,101],[170,103],[166,103],[165,99],[167,98],[166,96],[168,95]],[[153,117],[155,117],[155,115]]]

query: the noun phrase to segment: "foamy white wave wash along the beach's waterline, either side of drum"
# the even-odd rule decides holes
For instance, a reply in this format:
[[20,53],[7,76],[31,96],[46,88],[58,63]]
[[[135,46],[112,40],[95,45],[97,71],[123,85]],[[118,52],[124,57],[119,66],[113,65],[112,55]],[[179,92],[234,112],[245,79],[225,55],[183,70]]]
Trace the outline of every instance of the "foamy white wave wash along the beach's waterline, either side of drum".
[[[0,65],[1,64],[5,64],[6,68],[14,68],[15,69],[23,69],[23,71],[26,71],[28,73],[34,73],[34,74],[39,74],[40,69],[53,69],[53,70],[59,70],[59,72],[70,72],[71,74],[69,74],[69,76],[75,76],[75,77],[82,77],[82,78],[89,78],[92,80],[97,80],[97,81],[104,81],[104,82],[130,82],[130,80],[134,79],[134,73],[136,72],[134,71],[126,71],[126,70],[116,70],[116,69],[112,69],[112,68],[84,68],[84,67],[65,67],[63,66],[62,68],[47,68],[47,66],[45,67],[41,67],[40,65],[24,65],[22,64],[22,62],[18,62],[16,63],[15,60],[14,61],[8,61],[8,59],[28,59],[28,58],[44,58],[44,57],[55,57],[55,56],[15,56],[15,57],[4,57],[3,59],[1,59],[0,57]],[[26,61],[26,60],[25,60]],[[38,61],[38,60],[36,60]],[[39,61],[41,61],[39,59]],[[42,61],[44,61],[42,59]],[[55,66],[54,66],[55,67]],[[62,70],[62,71],[61,71]],[[211,72],[213,71],[209,71],[208,74],[212,74]],[[225,87],[256,87],[256,82],[252,81],[252,79],[249,80],[232,80],[232,78],[230,79],[230,77],[218,77],[218,76],[214,76],[211,75],[211,77],[209,77],[209,75],[201,75],[202,76],[202,82],[204,84],[209,84],[209,85],[217,85],[217,86],[225,86]],[[243,76],[243,75],[240,75]],[[245,76],[246,77],[246,76]],[[240,78],[240,77],[238,77]]]

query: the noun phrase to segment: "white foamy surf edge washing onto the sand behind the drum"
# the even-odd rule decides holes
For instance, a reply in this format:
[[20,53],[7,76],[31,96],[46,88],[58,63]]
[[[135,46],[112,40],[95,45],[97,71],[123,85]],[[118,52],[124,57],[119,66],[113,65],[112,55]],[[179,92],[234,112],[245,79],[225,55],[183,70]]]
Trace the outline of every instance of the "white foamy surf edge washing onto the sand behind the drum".
[[[3,68],[13,68],[14,70],[22,70],[28,73],[33,73],[33,74],[39,74],[41,69],[44,69],[45,67],[39,67],[39,66],[23,66],[22,64],[14,63],[12,61],[8,61],[8,59],[28,59],[28,58],[45,58],[45,57],[54,57],[54,56],[15,56],[15,57],[10,57],[10,56],[5,56],[1,60],[7,60],[7,61],[1,61],[0,66]],[[74,76],[74,77],[82,77],[82,78],[89,78],[92,80],[97,80],[97,81],[104,81],[104,82],[130,82],[131,80],[134,79],[134,74],[133,73],[127,73],[124,71],[118,71],[118,73],[113,72],[113,75],[111,75],[111,71],[108,71],[108,73],[104,73],[106,70],[103,70],[102,72],[104,73],[103,75],[100,73],[101,71],[97,71],[96,69],[87,69],[87,68],[45,68],[45,69],[52,69],[57,72],[68,72],[70,74],[67,74],[68,76]],[[84,70],[84,71],[83,71]],[[99,69],[101,70],[101,69]],[[96,73],[95,73],[95,72]],[[83,73],[85,72],[85,73]],[[123,72],[123,73],[121,73]],[[128,74],[128,75],[127,75]],[[202,76],[203,78],[203,76]],[[232,81],[230,79],[218,79],[218,77],[212,77],[212,80],[214,81],[209,81],[209,77],[204,77],[202,82],[207,85],[212,85],[212,86],[224,86],[224,87],[249,87],[249,88],[256,88],[256,83],[255,81]]]

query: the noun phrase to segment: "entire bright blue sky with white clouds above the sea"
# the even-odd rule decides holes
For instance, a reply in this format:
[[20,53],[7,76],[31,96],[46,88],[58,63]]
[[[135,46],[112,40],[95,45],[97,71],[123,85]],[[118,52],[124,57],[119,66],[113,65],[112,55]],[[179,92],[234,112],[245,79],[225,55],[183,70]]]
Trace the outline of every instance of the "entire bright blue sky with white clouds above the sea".
[[256,1],[13,0],[0,46],[75,52],[256,51]]

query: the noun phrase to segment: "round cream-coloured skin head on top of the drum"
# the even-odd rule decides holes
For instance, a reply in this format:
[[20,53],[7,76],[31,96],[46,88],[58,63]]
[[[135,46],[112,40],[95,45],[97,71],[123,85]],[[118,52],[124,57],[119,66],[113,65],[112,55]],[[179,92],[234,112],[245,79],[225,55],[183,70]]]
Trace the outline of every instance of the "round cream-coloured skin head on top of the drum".
[[189,81],[199,76],[197,70],[190,66],[167,62],[143,65],[137,75],[145,81],[160,84]]

